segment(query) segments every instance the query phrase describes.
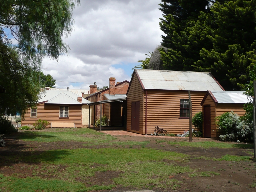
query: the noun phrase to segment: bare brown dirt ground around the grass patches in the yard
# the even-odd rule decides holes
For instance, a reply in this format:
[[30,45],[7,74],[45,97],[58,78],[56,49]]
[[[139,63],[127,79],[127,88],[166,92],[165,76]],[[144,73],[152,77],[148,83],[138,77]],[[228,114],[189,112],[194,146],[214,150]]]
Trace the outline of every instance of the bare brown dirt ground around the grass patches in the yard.
[[[22,140],[16,140],[17,134],[14,133],[11,135],[6,135],[4,140],[6,142],[6,146],[0,148],[0,156],[4,159],[5,157],[12,156],[13,154],[26,154],[29,155],[32,152],[40,154],[46,150],[55,150],[55,149],[76,149],[76,148],[119,148],[120,146],[107,146],[107,145],[99,145],[99,146],[84,146],[83,142],[25,142]],[[198,172],[207,172],[213,171],[220,173],[220,176],[212,176],[212,177],[188,177],[188,173],[170,175],[170,179],[176,179],[182,181],[180,184],[180,188],[176,188],[176,190],[172,189],[161,189],[161,188],[150,188],[150,190],[154,190],[156,192],[160,191],[256,191],[256,188],[250,187],[250,185],[256,181],[256,161],[251,158],[251,160],[240,161],[240,162],[232,162],[232,161],[213,161],[213,160],[205,160],[205,159],[194,159],[194,157],[213,157],[220,158],[224,155],[236,155],[236,156],[252,156],[249,153],[253,153],[253,149],[244,149],[244,148],[230,148],[230,149],[221,149],[221,148],[193,148],[193,147],[180,147],[180,146],[171,146],[166,143],[157,143],[156,138],[154,137],[141,137],[141,136],[115,136],[117,139],[115,141],[150,141],[147,147],[161,149],[166,151],[176,151],[179,153],[184,153],[190,155],[190,160],[188,163],[177,163],[177,165],[181,166],[189,166],[193,169],[198,169]],[[157,138],[159,139],[159,138]],[[160,139],[164,139],[166,141],[175,141],[175,140],[185,140],[188,141],[188,138],[175,138],[175,137],[163,137]],[[193,142],[196,141],[215,141],[210,139],[193,139]],[[220,141],[215,141],[220,142]],[[141,146],[133,146],[133,148],[140,148]],[[129,145],[125,146],[125,148],[129,148]],[[173,163],[173,162],[167,162]],[[33,164],[32,164],[33,165]],[[39,168],[42,164],[36,164]],[[17,159],[15,162],[0,162],[0,173],[5,176],[10,176],[15,173],[22,173],[23,177],[32,177],[31,169],[29,167],[31,164],[25,164],[19,162]],[[65,171],[64,166],[57,166],[58,171]],[[101,166],[95,162],[94,166]],[[88,178],[86,181],[90,183],[88,186],[92,185],[108,185],[114,184],[113,178],[118,177],[121,172],[96,172],[95,176],[92,178]],[[39,175],[38,175],[39,176]],[[48,176],[45,176],[46,178]],[[54,177],[51,176],[51,177]],[[77,178],[78,181],[79,178]],[[149,190],[149,188],[142,188],[143,190]],[[119,192],[119,191],[132,191],[132,190],[142,190],[141,188],[124,188],[122,186],[117,186],[112,190],[108,190],[108,192]],[[101,191],[107,192],[107,191]]]

